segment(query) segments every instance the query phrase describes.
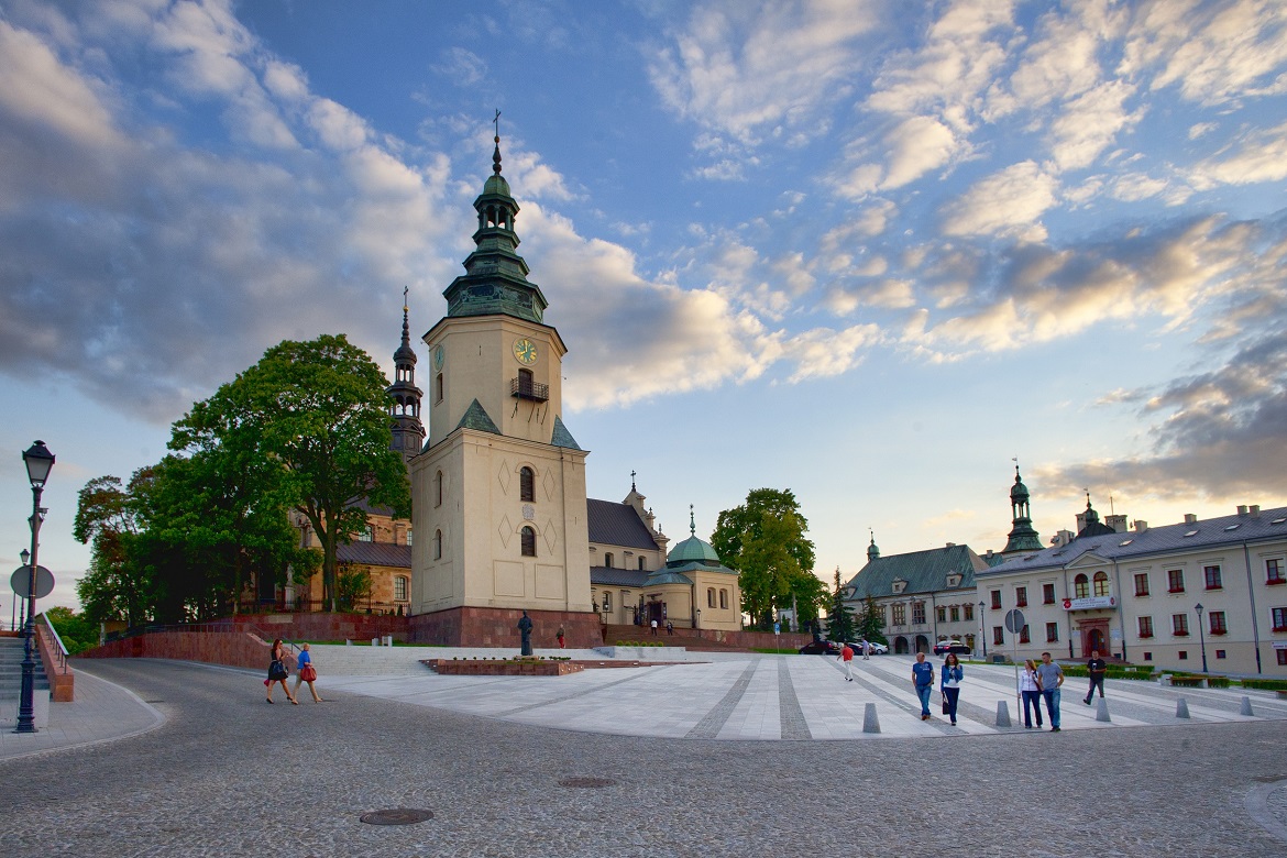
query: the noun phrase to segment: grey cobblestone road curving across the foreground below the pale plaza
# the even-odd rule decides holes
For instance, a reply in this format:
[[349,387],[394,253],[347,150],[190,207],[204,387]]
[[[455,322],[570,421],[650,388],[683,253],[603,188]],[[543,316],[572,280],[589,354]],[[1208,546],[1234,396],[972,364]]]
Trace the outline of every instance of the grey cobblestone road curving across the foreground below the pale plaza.
[[[0,762],[13,854],[1287,854],[1254,816],[1283,808],[1284,720],[933,741],[664,738],[338,688],[326,704],[269,706],[259,673],[187,662],[81,669],[167,720]],[[395,808],[434,816],[360,822]]]

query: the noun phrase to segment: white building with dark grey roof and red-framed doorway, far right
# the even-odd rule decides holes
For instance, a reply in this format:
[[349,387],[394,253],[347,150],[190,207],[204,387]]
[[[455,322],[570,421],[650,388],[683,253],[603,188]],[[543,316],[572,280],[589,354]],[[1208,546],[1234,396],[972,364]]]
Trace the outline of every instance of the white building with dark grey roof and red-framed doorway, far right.
[[976,571],[990,652],[1287,677],[1287,507],[1117,531],[1088,504],[1069,536]]

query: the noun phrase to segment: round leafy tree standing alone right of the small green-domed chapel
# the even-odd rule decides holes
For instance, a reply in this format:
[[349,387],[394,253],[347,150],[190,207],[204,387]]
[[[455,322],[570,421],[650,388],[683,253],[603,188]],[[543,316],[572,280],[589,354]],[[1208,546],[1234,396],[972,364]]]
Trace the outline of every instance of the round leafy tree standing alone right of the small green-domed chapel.
[[807,530],[790,490],[754,489],[743,506],[719,513],[710,544],[737,570],[741,607],[762,628],[771,626],[776,608],[792,607],[793,594],[801,617],[816,617],[826,598]]

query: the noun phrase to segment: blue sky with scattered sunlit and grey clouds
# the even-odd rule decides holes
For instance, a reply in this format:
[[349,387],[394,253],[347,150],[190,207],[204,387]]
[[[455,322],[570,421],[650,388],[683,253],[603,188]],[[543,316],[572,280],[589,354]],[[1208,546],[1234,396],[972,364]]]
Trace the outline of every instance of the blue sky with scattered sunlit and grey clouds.
[[[0,0],[0,552],[283,338],[391,368],[501,109],[592,497],[792,489],[817,571],[1287,503],[1275,0]],[[421,356],[426,358],[423,346]],[[422,364],[423,365],[423,364]],[[9,598],[0,601],[8,608]]]

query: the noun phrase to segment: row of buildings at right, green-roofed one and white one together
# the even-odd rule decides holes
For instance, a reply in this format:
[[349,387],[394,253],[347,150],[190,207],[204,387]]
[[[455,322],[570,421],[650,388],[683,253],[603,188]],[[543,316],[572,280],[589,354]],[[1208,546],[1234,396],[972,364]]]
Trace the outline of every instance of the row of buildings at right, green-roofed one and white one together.
[[1015,473],[1005,551],[965,545],[880,557],[848,583],[870,597],[894,652],[956,638],[976,655],[1082,660],[1093,650],[1166,669],[1287,678],[1287,507],[1149,527],[1102,524],[1088,498],[1077,533],[1042,548]]

